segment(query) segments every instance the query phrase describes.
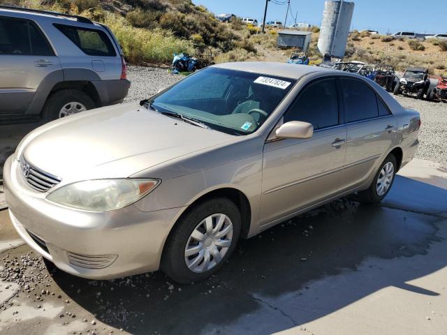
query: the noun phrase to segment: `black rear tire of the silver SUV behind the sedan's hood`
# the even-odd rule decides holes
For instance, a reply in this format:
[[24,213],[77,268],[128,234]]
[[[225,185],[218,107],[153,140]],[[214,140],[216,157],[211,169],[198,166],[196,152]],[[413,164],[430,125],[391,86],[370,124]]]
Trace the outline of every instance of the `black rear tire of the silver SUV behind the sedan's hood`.
[[[73,105],[71,105],[71,112],[66,109],[65,112],[67,114],[64,115],[61,110],[69,103],[73,103]],[[96,107],[94,101],[84,92],[78,91],[77,89],[61,89],[47,98],[47,101],[43,106],[43,118],[46,122],[49,122],[59,119],[60,117],[68,116],[68,114],[82,112],[83,110],[91,110],[94,107]]]

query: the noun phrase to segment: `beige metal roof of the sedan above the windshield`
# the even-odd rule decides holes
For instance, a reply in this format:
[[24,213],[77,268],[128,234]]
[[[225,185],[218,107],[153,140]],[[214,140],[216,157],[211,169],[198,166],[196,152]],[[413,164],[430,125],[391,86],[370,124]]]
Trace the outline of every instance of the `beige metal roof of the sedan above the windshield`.
[[265,75],[288,77],[292,79],[299,79],[303,75],[307,75],[308,73],[313,72],[339,72],[337,70],[320,68],[318,66],[277,63],[273,61],[234,61],[231,63],[216,64],[213,65],[213,67],[228,68],[229,70],[240,70],[253,73],[262,73]]

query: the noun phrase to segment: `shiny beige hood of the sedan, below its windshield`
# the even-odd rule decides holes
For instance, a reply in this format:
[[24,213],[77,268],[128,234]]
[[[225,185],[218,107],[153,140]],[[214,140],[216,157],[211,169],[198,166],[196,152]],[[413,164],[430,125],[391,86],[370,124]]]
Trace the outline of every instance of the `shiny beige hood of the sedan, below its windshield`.
[[236,138],[127,104],[82,112],[38,128],[23,144],[22,154],[66,184],[129,177]]

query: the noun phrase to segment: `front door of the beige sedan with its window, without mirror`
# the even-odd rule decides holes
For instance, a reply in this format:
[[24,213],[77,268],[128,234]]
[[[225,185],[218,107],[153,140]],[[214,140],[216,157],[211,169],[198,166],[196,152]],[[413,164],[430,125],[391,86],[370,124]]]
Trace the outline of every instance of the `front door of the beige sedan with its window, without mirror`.
[[284,122],[309,122],[314,135],[265,143],[261,225],[328,199],[342,188],[346,127],[339,119],[335,79],[312,82],[295,99]]

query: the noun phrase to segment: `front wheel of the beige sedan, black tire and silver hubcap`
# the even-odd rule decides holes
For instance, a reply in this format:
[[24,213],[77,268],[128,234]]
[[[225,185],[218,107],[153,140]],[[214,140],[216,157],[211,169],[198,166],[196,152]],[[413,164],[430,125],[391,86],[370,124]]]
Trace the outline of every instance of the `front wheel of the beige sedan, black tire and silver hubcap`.
[[[225,218],[221,228],[217,228],[217,234],[219,232],[223,234],[225,230],[228,230],[228,226],[231,225],[233,227],[231,236],[227,233],[221,239],[217,235],[214,235],[214,239],[213,237],[207,237],[208,235],[213,235],[205,231],[205,218],[210,218],[210,216],[214,215],[217,217],[212,218],[211,221],[213,232],[217,228],[220,215],[223,215],[229,221]],[[240,228],[240,212],[232,201],[226,198],[212,198],[197,204],[185,216],[179,219],[170,233],[161,257],[161,269],[177,283],[203,281],[219,271],[231,253],[233,253],[240,236]],[[200,238],[203,239],[200,241],[192,237],[192,234],[197,232],[199,236],[200,232],[202,233]],[[230,240],[229,243],[228,240]],[[228,246],[221,247],[222,242],[228,243]],[[209,243],[210,245],[207,246]],[[190,255],[186,255],[186,248],[195,249],[191,251]],[[214,255],[217,255],[216,248],[221,248],[218,250],[220,260],[217,262],[217,258],[214,257]],[[196,252],[196,249],[200,250],[200,252]],[[204,252],[201,256],[202,258],[200,258],[201,252]],[[199,258],[200,261],[198,261]],[[208,269],[203,269],[206,259],[209,261],[209,266]],[[189,262],[189,265],[186,262]]]

